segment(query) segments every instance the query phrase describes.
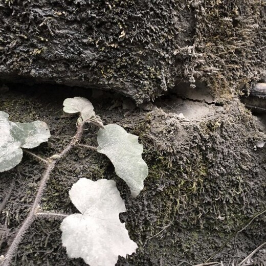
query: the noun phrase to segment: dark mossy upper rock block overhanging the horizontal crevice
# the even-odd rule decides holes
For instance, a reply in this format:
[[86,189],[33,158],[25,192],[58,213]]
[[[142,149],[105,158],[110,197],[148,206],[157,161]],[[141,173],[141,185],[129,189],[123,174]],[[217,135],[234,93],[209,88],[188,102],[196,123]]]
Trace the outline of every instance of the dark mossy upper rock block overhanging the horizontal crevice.
[[117,91],[176,82],[230,93],[265,76],[264,0],[0,1],[1,79]]

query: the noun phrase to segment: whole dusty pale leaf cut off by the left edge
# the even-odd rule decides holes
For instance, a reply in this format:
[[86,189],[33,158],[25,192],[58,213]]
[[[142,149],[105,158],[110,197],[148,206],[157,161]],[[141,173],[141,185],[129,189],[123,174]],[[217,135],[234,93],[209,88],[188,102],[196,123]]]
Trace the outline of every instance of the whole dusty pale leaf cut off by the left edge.
[[9,115],[0,111],[0,172],[7,171],[20,163],[23,152],[20,147],[34,148],[48,141],[50,131],[46,123],[14,123]]

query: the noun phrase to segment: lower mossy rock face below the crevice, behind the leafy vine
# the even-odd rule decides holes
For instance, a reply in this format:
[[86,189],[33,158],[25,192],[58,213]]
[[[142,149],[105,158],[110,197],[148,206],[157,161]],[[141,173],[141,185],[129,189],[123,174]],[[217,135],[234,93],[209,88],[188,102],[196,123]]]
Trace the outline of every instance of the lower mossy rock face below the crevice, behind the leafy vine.
[[[62,112],[66,97],[55,94],[10,92],[1,98],[1,109],[10,114],[11,121],[39,119],[50,126],[49,142],[34,149],[41,157],[61,151],[76,130],[76,118]],[[225,264],[237,254],[239,262],[265,241],[264,213],[239,232],[235,241],[227,242],[266,205],[265,150],[254,149],[265,135],[237,99],[214,105],[215,112],[199,120],[181,119],[157,107],[151,112],[137,108],[128,113],[120,107],[110,110],[110,100],[93,104],[104,124],[117,123],[140,136],[149,167],[144,189],[132,198],[103,154],[75,148],[53,171],[42,198],[43,210],[75,213],[68,196],[73,183],[82,177],[114,179],[127,208],[120,219],[139,246],[136,254],[119,258],[117,265],[123,266],[172,266],[183,260],[196,264],[213,254],[212,261]],[[89,126],[82,143],[97,145],[96,132]],[[14,184],[0,218],[1,254],[28,213],[43,168],[25,154],[17,167],[1,174],[0,200]],[[59,221],[36,219],[12,265],[85,265],[82,259],[67,257],[59,226]]]

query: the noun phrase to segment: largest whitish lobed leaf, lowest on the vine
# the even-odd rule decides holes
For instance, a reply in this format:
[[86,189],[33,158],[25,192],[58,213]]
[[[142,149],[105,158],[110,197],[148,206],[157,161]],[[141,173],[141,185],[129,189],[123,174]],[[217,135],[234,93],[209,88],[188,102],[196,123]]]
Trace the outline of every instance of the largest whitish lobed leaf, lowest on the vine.
[[118,255],[136,251],[137,244],[119,219],[126,208],[114,181],[82,178],[69,194],[82,213],[66,217],[60,227],[70,258],[81,257],[90,266],[114,266]]

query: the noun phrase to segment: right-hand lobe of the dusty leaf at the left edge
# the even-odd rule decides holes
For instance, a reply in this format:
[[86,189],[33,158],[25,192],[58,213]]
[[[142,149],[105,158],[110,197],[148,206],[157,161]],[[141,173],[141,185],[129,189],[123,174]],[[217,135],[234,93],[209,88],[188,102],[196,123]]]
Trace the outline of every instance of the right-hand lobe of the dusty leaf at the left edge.
[[13,123],[12,136],[20,141],[21,148],[35,148],[42,142],[47,142],[51,137],[48,125],[45,122],[34,121],[31,123]]

